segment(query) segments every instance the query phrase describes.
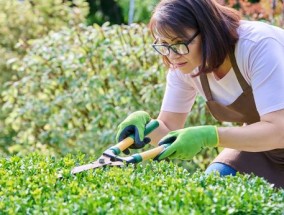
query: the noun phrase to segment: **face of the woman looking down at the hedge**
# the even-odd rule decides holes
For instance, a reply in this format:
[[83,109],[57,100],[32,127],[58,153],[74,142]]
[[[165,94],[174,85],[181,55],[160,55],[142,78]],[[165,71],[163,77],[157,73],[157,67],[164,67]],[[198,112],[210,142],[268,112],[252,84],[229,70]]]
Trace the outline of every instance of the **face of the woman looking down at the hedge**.
[[191,73],[196,67],[200,66],[202,62],[200,34],[197,34],[197,36],[193,39],[196,32],[196,29],[188,30],[187,38],[181,38],[176,36],[175,34],[170,34],[170,38],[163,36],[157,37],[158,44],[164,44],[169,46],[177,43],[187,43],[188,41],[190,41],[190,43],[187,45],[189,53],[181,55],[175,53],[172,49],[169,49],[170,52],[167,55],[171,67],[180,70],[184,74]]

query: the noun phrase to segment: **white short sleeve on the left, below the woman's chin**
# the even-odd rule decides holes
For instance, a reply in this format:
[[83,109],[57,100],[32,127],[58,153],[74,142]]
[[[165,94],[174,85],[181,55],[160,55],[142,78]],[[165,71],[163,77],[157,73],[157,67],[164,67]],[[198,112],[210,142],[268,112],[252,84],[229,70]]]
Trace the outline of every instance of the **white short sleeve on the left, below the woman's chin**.
[[175,113],[188,113],[196,97],[196,90],[186,75],[169,70],[166,90],[161,110]]

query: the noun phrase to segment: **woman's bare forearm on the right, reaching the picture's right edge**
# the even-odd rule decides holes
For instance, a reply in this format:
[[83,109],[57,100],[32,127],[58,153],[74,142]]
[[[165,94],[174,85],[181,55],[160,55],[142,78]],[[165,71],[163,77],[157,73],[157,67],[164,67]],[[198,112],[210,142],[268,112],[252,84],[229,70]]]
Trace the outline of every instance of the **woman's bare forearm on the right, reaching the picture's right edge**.
[[243,127],[220,127],[219,146],[260,152],[284,148],[284,110],[265,114],[260,122]]

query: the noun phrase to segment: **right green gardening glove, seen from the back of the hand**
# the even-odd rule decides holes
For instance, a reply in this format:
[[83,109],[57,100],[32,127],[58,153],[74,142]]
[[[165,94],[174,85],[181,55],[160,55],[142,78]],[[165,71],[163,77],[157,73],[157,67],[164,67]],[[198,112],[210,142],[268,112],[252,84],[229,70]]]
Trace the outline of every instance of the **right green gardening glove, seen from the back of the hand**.
[[216,126],[197,126],[172,131],[166,135],[159,145],[171,144],[157,158],[162,160],[181,159],[191,160],[204,147],[214,147],[219,144]]

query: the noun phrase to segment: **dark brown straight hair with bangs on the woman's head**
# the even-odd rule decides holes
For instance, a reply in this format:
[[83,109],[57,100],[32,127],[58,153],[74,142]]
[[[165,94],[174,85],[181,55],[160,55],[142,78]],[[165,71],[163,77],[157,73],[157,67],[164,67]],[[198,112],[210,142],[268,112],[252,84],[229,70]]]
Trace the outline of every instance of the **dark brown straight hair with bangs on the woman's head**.
[[[212,72],[234,50],[238,40],[239,13],[215,0],[162,0],[153,11],[149,29],[155,38],[156,31],[164,36],[175,32],[187,37],[188,29],[200,31],[202,64],[200,73]],[[163,58],[167,66],[167,57]],[[200,74],[199,73],[199,74]]]

